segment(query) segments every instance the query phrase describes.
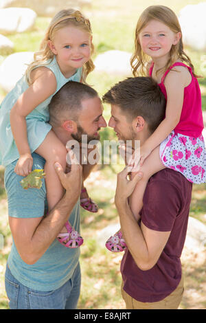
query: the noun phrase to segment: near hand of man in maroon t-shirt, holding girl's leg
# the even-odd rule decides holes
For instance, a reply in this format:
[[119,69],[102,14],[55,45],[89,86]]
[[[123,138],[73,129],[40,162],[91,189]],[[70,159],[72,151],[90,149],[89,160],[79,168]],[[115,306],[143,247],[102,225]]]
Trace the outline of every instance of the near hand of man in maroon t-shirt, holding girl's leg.
[[138,181],[141,180],[142,172],[137,172],[135,177],[130,181],[127,179],[129,168],[126,166],[122,172],[117,175],[117,188],[115,193],[115,203],[126,201],[132,194]]

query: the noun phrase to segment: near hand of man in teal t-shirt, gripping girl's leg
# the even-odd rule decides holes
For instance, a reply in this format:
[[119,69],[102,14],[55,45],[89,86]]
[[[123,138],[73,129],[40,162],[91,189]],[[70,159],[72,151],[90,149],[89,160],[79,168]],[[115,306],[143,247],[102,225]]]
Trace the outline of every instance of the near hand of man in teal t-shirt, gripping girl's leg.
[[78,160],[73,151],[69,149],[69,157],[71,160],[71,170],[67,174],[62,170],[62,166],[58,163],[54,164],[55,170],[62,183],[63,188],[69,193],[78,193],[82,186],[82,166],[78,164]]

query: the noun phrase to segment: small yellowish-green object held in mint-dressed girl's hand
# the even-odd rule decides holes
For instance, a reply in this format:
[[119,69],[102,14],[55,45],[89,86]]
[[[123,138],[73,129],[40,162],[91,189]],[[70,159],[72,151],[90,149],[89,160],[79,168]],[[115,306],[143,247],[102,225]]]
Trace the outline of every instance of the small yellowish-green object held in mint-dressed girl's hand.
[[38,188],[40,189],[42,186],[42,180],[45,177],[45,172],[43,169],[34,169],[30,172],[27,177],[20,181],[21,186],[24,190],[28,188]]

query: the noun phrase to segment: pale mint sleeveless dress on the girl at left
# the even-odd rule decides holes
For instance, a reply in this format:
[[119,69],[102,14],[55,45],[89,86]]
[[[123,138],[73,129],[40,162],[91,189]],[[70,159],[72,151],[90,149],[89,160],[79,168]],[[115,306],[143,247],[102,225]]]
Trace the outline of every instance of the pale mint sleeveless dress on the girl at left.
[[[56,92],[70,80],[80,82],[82,77],[82,67],[76,70],[70,78],[65,78],[61,73],[58,63],[56,62],[56,56],[45,65],[48,69],[51,69],[56,76]],[[47,86],[47,85],[45,85]],[[0,107],[0,164],[7,166],[12,161],[19,159],[19,151],[14,142],[12,135],[12,129],[10,126],[10,110],[18,100],[19,96],[29,87],[25,76],[23,76],[15,85],[14,89],[5,96]],[[55,93],[56,93],[55,92]],[[55,94],[54,93],[54,94]],[[54,96],[52,94],[52,96]],[[52,129],[49,122],[49,102],[52,100],[52,96],[49,96],[44,102],[41,102],[29,115],[26,117],[27,122],[27,140],[30,145],[31,153],[34,153],[38,146],[45,140],[47,133]],[[21,129],[19,129],[21,131]]]

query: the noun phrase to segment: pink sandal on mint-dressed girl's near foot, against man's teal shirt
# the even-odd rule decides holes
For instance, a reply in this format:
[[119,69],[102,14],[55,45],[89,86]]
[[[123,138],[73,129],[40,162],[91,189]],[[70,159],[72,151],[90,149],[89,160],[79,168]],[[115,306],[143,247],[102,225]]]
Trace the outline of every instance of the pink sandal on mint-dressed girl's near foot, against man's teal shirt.
[[[82,236],[78,234],[77,231],[73,230],[69,221],[65,223],[65,227],[67,228],[67,233],[58,234],[57,238],[61,245],[64,245],[67,248],[78,248],[84,242]],[[69,239],[69,241],[67,241]]]

